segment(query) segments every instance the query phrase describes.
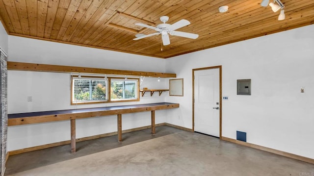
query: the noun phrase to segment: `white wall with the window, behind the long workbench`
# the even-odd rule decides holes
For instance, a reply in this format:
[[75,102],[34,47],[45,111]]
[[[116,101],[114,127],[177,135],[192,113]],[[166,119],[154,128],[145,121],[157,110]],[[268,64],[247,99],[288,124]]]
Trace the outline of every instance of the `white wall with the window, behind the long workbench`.
[[[80,46],[9,36],[9,61],[133,71],[164,72],[165,60]],[[140,88],[165,89],[165,79],[145,77]],[[32,96],[32,102],[27,102]],[[163,102],[167,94],[145,94],[132,104]],[[130,104],[130,102],[70,104],[70,74],[8,71],[8,113],[36,112]],[[156,123],[166,111],[156,111]],[[150,112],[122,115],[122,129],[150,125]],[[117,131],[116,116],[77,120],[77,138]],[[149,134],[148,134],[149,135]],[[8,151],[70,140],[70,122],[9,126]]]

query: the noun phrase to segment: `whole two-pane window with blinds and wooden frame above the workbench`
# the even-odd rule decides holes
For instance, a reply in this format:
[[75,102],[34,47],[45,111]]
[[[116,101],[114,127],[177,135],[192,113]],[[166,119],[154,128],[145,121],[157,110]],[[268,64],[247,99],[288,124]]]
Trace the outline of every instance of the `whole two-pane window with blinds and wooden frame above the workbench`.
[[138,87],[137,78],[73,77],[71,104],[139,101]]

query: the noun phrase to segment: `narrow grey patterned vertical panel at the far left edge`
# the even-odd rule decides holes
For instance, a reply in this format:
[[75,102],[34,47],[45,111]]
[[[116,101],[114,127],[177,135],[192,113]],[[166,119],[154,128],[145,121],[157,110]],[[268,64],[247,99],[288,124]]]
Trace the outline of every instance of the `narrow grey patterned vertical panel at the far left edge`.
[[5,172],[5,161],[6,161],[6,142],[7,142],[7,127],[8,127],[8,114],[7,114],[7,67],[6,67],[7,56],[0,49],[0,93],[1,93],[1,120],[0,120],[0,173],[4,176]]

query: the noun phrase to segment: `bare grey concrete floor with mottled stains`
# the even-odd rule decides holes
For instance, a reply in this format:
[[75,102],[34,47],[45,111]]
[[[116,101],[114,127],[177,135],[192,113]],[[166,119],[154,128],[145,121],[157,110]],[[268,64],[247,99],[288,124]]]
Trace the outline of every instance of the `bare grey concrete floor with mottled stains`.
[[[314,165],[169,126],[10,156],[6,176],[314,176]],[[308,175],[305,175],[308,174]]]

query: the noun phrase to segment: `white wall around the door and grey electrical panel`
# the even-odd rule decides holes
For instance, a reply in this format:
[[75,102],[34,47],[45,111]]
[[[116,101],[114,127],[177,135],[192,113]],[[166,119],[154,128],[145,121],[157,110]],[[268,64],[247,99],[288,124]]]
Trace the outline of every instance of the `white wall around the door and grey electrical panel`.
[[[167,59],[184,78],[184,97],[166,122],[192,128],[192,69],[222,65],[222,136],[314,158],[314,25]],[[252,79],[252,95],[236,95],[236,79]],[[305,93],[300,93],[305,87]],[[171,118],[170,118],[171,117]]]

